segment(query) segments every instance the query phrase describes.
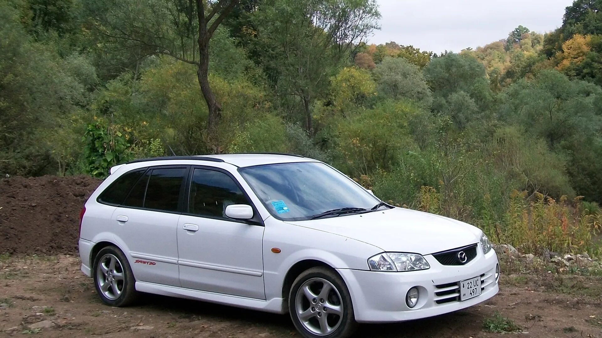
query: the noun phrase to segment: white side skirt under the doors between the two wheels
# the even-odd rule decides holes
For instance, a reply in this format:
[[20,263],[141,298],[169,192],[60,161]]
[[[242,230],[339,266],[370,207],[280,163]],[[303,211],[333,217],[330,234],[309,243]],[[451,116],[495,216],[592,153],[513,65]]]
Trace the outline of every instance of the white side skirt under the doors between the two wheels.
[[135,288],[140,292],[154,293],[177,298],[187,298],[189,300],[206,301],[209,303],[223,304],[244,309],[259,310],[284,314],[284,300],[282,298],[272,298],[271,300],[256,300],[253,298],[224,295],[223,293],[206,292],[184,287],[167,286],[163,284],[148,283],[146,281],[137,281]]

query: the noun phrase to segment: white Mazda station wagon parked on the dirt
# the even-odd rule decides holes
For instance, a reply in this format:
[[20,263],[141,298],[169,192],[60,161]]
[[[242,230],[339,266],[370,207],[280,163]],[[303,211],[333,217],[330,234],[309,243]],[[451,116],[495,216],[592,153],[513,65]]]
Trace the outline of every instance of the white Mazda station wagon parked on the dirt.
[[81,212],[102,301],[140,292],[290,313],[303,337],[453,312],[498,292],[483,232],[391,206],[328,164],[278,154],[111,168]]

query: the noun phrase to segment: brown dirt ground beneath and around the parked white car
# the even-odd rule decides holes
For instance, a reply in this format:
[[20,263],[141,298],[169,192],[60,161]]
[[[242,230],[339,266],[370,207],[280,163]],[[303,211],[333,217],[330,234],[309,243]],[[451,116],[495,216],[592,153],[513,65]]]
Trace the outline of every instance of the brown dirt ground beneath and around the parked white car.
[[[517,286],[517,280],[528,281],[519,277],[505,277],[500,293],[485,304],[420,321],[361,325],[355,336],[501,337],[482,330],[483,321],[499,311],[523,328],[516,334],[521,337],[602,338],[602,295],[542,292],[537,283]],[[200,301],[144,295],[134,307],[105,306],[79,271],[78,258],[67,255],[2,257],[2,303],[0,337],[299,336],[288,316]]]

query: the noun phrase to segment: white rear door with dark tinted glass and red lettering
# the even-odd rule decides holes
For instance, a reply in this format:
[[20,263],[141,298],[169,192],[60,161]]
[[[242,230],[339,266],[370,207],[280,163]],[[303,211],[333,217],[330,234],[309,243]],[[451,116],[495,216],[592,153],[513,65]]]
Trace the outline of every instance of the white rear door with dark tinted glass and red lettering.
[[188,166],[151,167],[113,212],[117,240],[138,281],[179,286],[176,229]]

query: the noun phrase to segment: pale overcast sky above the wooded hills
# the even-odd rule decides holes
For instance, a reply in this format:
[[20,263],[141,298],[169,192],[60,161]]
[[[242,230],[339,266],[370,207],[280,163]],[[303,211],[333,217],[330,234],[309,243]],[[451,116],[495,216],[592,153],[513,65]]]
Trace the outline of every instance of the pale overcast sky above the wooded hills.
[[377,0],[382,19],[370,43],[396,41],[436,53],[506,38],[518,25],[547,32],[573,0]]

